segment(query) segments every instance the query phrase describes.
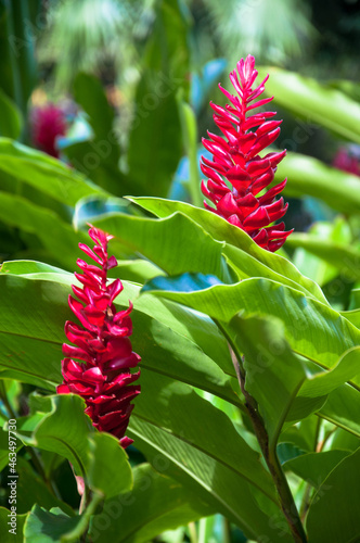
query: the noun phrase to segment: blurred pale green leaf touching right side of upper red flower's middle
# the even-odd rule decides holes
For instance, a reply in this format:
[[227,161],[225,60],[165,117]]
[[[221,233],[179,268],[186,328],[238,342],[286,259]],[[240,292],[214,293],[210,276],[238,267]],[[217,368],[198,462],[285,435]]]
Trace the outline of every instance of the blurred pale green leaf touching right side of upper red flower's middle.
[[282,181],[284,177],[288,178],[284,189],[288,197],[308,194],[346,215],[360,213],[360,180],[356,175],[330,167],[318,159],[290,152],[275,173],[275,180]]

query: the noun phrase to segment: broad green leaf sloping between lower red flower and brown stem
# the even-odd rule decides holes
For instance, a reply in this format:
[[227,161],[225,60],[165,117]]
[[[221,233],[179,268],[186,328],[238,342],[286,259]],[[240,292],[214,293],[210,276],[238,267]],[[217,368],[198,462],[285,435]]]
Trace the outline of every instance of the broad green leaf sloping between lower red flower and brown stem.
[[177,468],[180,473],[176,478],[185,484],[189,481],[194,492],[205,496],[246,534],[254,539],[266,534],[275,542],[277,533],[268,516],[277,518],[280,512],[271,480],[259,455],[227,416],[190,387],[162,376],[153,380],[144,374],[142,394],[137,400],[128,434],[146,457],[163,469],[168,466],[172,476]]

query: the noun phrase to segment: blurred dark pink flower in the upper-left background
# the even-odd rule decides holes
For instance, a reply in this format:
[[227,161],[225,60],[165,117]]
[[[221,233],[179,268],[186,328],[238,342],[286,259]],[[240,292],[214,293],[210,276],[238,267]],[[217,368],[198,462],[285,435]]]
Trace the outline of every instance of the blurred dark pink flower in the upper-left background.
[[66,118],[63,110],[49,103],[31,112],[31,139],[35,147],[59,159],[56,138],[65,136]]

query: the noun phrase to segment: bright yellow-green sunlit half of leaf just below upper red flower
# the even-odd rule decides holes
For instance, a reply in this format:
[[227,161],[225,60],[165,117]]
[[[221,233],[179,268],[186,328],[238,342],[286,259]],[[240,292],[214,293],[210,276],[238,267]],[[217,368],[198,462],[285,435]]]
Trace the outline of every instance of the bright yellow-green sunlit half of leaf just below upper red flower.
[[[214,239],[224,243],[223,254],[241,279],[266,277],[283,282],[325,302],[321,289],[296,269],[291,262],[257,245],[247,233],[207,210],[184,202],[158,198],[130,198],[130,201],[164,218],[180,212],[201,225]],[[156,264],[156,262],[155,262]],[[185,272],[190,272],[187,269]],[[177,274],[180,272],[177,270]],[[208,272],[204,272],[208,273]]]

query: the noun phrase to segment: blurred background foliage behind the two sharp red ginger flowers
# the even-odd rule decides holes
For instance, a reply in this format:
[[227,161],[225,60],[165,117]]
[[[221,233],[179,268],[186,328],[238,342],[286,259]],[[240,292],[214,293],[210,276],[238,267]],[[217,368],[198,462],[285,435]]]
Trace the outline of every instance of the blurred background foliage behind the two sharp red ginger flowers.
[[[250,53],[284,119],[278,178],[296,231],[283,254],[334,307],[359,307],[359,0],[0,0],[0,262],[73,270],[74,226],[126,211],[126,194],[201,206],[208,102]],[[154,275],[117,256],[123,278]],[[200,525],[210,541],[245,540],[217,516]]]

